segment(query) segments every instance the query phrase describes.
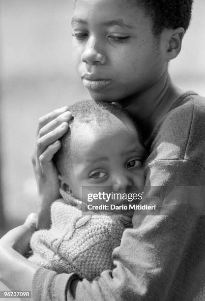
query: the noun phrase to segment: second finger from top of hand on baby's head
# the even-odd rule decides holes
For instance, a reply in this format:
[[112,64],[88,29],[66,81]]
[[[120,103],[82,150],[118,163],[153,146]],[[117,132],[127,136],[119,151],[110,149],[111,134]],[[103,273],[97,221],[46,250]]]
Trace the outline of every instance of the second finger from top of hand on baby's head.
[[58,127],[63,122],[68,122],[72,119],[72,114],[70,111],[64,112],[60,114],[54,120],[51,120],[49,123],[44,125],[38,133],[38,138],[43,137],[44,135],[48,134],[49,132],[53,131],[56,127]]

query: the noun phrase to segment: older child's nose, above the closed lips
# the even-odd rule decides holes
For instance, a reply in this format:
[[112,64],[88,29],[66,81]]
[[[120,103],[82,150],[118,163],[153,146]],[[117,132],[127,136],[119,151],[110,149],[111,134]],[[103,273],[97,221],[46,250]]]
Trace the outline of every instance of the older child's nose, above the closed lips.
[[106,57],[102,54],[99,43],[97,43],[97,41],[93,37],[89,37],[84,52],[81,56],[81,60],[88,63],[89,65],[95,63],[105,63]]

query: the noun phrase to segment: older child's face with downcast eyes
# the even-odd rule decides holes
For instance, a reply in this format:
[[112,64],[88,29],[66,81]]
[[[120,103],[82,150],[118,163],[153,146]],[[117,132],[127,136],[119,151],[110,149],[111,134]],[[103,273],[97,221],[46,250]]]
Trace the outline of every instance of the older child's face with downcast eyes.
[[[130,1],[131,2],[131,1]],[[144,12],[127,0],[77,0],[73,52],[95,100],[115,101],[150,88],[166,68]]]

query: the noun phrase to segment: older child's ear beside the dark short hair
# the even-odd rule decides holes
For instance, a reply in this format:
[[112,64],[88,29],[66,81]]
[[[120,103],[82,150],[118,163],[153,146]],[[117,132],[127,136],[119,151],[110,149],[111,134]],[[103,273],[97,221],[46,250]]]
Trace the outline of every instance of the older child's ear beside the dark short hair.
[[175,30],[170,30],[169,40],[167,42],[167,59],[173,60],[181,51],[182,39],[184,36],[184,29],[178,27]]

